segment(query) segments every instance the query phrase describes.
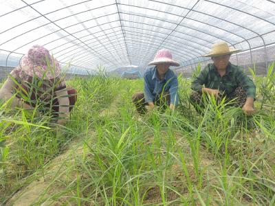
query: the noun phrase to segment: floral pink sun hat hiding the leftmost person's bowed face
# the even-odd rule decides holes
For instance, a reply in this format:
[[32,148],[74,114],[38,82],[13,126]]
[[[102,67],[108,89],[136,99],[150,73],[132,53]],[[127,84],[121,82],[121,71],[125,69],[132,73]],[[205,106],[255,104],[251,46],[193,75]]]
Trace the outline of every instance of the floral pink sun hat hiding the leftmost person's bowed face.
[[47,80],[54,79],[61,74],[61,67],[58,61],[50,55],[45,47],[40,45],[32,46],[28,54],[25,54],[20,64],[22,70],[29,76],[38,76]]

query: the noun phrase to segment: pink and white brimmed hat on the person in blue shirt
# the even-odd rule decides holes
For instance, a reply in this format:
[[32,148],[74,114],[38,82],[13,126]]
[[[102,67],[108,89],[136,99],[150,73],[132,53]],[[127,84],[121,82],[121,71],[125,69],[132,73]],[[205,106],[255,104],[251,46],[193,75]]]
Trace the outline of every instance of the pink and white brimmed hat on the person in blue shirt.
[[172,54],[168,49],[160,49],[153,61],[148,63],[148,65],[158,65],[158,64],[166,64],[175,67],[179,67],[179,62],[176,62],[172,59]]

